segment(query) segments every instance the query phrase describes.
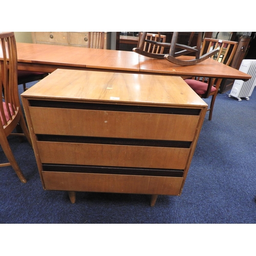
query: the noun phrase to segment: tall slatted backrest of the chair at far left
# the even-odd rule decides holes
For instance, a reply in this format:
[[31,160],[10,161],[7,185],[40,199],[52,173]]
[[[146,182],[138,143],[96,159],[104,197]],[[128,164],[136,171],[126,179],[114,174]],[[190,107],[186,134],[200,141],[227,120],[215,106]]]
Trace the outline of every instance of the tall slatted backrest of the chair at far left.
[[[0,32],[0,83],[2,96],[0,97],[0,116],[6,134],[13,129],[11,121],[20,115],[20,102],[17,86],[17,50],[14,32]],[[16,124],[15,124],[16,126]],[[14,126],[14,127],[15,127]],[[2,127],[2,126],[1,126]]]

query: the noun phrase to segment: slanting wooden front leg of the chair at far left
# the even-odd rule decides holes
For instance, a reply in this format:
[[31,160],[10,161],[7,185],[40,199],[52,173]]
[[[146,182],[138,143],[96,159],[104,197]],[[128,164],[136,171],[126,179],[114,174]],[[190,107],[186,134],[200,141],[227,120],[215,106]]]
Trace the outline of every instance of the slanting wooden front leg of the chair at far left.
[[6,136],[3,136],[1,139],[0,139],[0,142],[1,142],[1,146],[3,148],[3,151],[8,159],[8,161],[10,162],[11,166],[13,167],[15,173],[17,174],[18,178],[20,179],[20,181],[22,183],[26,183],[27,180],[26,178],[24,177],[22,171],[20,170],[13,154],[12,154],[12,151],[11,151],[11,148],[10,148],[10,145],[9,145],[9,142],[7,140],[7,137]]

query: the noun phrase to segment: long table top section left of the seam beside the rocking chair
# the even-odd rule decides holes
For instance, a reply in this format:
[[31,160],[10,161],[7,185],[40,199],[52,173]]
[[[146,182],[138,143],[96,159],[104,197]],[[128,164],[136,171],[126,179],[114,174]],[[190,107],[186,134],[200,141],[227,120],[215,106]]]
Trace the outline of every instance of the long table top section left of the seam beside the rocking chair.
[[17,42],[18,63],[139,72],[135,52]]

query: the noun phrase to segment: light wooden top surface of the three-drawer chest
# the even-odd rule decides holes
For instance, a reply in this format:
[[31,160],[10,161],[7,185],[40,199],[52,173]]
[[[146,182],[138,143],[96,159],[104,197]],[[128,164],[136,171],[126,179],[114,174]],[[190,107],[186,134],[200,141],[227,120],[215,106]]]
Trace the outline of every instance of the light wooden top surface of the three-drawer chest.
[[68,101],[122,102],[142,105],[207,104],[178,76],[57,69],[22,94]]

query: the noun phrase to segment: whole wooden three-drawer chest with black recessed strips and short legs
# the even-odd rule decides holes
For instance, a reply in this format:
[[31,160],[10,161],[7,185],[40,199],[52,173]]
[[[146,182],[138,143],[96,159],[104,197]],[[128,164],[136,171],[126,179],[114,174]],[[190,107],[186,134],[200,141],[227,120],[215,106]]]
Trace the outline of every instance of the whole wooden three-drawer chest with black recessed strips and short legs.
[[180,77],[58,69],[22,94],[48,190],[180,195],[207,104]]

